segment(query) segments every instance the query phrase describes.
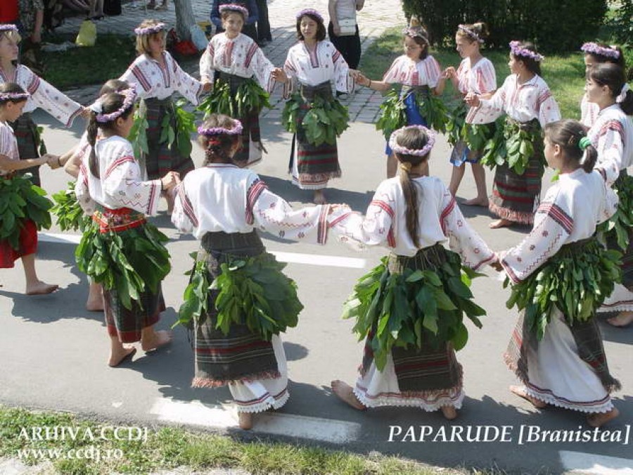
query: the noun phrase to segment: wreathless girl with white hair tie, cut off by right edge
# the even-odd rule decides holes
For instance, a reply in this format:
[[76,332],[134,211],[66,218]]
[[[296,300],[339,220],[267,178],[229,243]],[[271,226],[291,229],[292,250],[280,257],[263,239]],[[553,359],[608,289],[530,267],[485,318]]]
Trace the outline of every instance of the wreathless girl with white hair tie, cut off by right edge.
[[633,91],[629,90],[625,70],[617,64],[601,63],[589,70],[585,96],[599,110],[587,135],[598,150],[596,168],[620,198],[618,213],[599,227],[609,249],[622,256],[622,284],[605,300],[599,312],[620,312],[607,321],[615,327],[633,322]]

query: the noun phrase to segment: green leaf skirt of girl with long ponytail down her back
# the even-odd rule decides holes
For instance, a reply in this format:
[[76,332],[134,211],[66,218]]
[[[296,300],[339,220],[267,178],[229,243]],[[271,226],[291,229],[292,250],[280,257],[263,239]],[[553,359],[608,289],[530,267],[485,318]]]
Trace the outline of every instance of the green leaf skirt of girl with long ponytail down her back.
[[[439,244],[413,258],[390,255],[354,286],[343,318],[356,320],[354,333],[366,338],[366,353],[379,370],[395,348],[460,350],[468,341],[465,314],[481,327],[485,310],[473,303],[471,279],[480,274],[463,267],[459,255]],[[367,359],[364,367],[367,366]]]

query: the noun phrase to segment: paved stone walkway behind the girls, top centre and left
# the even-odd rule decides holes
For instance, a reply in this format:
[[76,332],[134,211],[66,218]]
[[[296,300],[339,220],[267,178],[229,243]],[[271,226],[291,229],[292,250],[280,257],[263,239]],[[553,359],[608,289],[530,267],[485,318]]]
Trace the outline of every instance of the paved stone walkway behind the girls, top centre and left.
[[[199,23],[207,22],[210,14],[210,0],[191,0],[196,20]],[[275,65],[281,66],[286,59],[286,53],[290,46],[295,44],[295,14],[301,8],[316,8],[321,11],[327,19],[328,2],[326,0],[274,0],[269,4],[269,18],[273,41],[264,46],[266,56]],[[123,13],[119,16],[106,17],[96,22],[97,34],[116,33],[131,35],[134,27],[141,23],[144,18],[157,18],[165,21],[169,25],[176,24],[176,14],[173,2],[167,11],[146,11],[141,1],[130,2],[123,5]],[[74,33],[79,30],[82,18],[69,18],[64,25],[58,28],[60,33]],[[362,39],[362,51],[379,37],[385,29],[398,23],[404,24],[404,14],[398,0],[381,0],[367,2],[365,8],[359,12],[358,22]],[[185,70],[198,77],[198,66],[193,61],[183,64]],[[68,95],[81,103],[87,104],[94,100],[99,86],[72,89]],[[262,117],[273,120],[281,118],[283,103],[279,89],[272,94],[271,110],[264,110]],[[376,91],[370,91],[364,87],[359,87],[356,94],[350,96],[344,103],[350,108],[350,118],[352,121],[375,122],[378,115],[378,108],[382,102],[382,96]]]

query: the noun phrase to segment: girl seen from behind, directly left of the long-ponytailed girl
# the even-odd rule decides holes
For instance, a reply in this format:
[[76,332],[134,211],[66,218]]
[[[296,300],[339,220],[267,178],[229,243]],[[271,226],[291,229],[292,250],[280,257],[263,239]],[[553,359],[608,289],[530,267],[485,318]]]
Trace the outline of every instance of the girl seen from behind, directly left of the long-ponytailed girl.
[[[189,173],[177,187],[172,222],[181,231],[192,232],[202,247],[180,310],[180,322],[193,324],[192,385],[228,385],[240,426],[250,429],[253,413],[278,409],[288,400],[286,356],[279,333],[295,327],[302,309],[294,282],[281,274],[283,265],[266,252],[255,229],[324,244],[328,220],[338,215],[331,213],[329,205],[293,210],[254,172],[236,166],[232,158],[241,128],[238,120],[212,114],[198,129],[205,166]],[[235,285],[229,288],[231,279],[241,281],[239,288],[250,289],[249,295]],[[202,299],[189,292],[198,285]],[[192,307],[198,310],[185,311]],[[255,314],[255,308],[264,317]]]

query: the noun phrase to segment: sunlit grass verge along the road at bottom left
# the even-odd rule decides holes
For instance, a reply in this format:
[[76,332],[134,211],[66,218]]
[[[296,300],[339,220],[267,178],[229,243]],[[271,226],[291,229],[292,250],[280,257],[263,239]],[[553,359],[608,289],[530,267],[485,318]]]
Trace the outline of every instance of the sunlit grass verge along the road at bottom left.
[[[77,441],[70,437],[58,441],[37,441],[20,436],[23,428],[71,427],[79,434],[87,429],[98,436],[103,426],[122,426],[108,422],[91,422],[67,413],[34,412],[0,407],[0,457],[17,457],[23,449],[82,449],[89,446],[101,450],[122,451],[122,458],[114,460],[51,460],[59,474],[146,474],[158,469],[186,467],[187,470],[211,468],[243,469],[252,474],[336,474],[336,475],[451,475],[465,471],[434,469],[422,464],[382,455],[356,455],[350,452],[325,450],[266,441],[243,442],[234,438],[196,433],[172,427],[148,430],[143,441]],[[44,462],[33,457],[23,459],[27,464]],[[475,472],[480,473],[480,472]]]

